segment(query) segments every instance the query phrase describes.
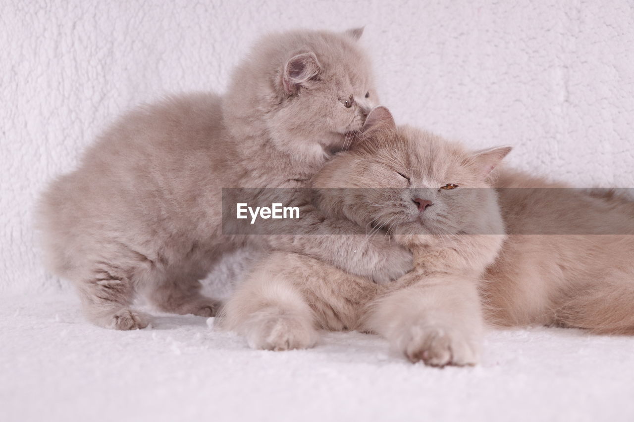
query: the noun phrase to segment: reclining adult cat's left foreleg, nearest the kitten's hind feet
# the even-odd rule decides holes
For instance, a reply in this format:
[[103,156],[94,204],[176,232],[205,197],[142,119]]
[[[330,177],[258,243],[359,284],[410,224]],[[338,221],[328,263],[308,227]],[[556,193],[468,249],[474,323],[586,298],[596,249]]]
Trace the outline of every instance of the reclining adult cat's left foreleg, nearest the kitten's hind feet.
[[256,265],[221,311],[220,326],[245,336],[252,348],[307,348],[317,340],[313,310],[285,276],[286,256],[276,253]]

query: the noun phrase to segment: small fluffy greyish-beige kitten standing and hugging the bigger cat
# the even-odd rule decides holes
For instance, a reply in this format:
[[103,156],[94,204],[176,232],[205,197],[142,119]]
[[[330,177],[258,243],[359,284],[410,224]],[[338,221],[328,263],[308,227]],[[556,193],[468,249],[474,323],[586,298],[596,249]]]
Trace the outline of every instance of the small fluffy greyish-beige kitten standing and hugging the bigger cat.
[[[126,113],[84,153],[79,168],[42,195],[37,227],[46,265],[79,291],[105,328],[144,328],[136,295],[160,310],[213,316],[199,279],[245,245],[301,252],[387,281],[411,253],[353,222],[356,236],[231,236],[221,188],[301,188],[356,137],[378,101],[361,29],[272,34],[233,73],[224,96],[172,96]],[[302,222],[328,234],[316,208]],[[317,226],[318,224],[318,226]]]

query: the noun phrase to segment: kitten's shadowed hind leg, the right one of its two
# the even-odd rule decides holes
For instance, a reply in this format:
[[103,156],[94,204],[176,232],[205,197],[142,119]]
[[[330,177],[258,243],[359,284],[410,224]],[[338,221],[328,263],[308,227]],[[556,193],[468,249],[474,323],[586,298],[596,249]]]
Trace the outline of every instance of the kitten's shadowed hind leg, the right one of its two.
[[181,274],[181,276],[165,278],[164,281],[152,285],[148,291],[148,299],[165,312],[204,317],[215,316],[221,307],[221,301],[202,295],[200,288],[197,276]]

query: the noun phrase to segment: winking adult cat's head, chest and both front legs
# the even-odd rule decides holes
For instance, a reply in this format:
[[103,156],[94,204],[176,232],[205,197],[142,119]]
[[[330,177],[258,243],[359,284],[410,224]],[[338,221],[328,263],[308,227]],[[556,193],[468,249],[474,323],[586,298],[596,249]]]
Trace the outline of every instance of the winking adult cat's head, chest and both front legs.
[[319,327],[363,329],[386,336],[412,361],[473,364],[483,324],[477,284],[504,239],[495,191],[476,188],[490,186],[489,173],[510,148],[469,153],[396,128],[384,107],[368,116],[363,139],[314,178],[319,206],[332,218],[385,227],[413,250],[415,269],[382,286],[276,253],[230,298],[222,326],[273,350],[309,347]]

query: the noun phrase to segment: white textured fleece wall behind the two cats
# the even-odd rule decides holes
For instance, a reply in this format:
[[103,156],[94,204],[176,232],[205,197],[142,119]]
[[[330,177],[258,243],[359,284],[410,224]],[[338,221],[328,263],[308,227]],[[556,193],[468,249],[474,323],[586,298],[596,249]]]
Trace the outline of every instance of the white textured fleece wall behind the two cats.
[[0,291],[56,288],[32,205],[126,108],[222,91],[259,34],[366,25],[398,122],[578,186],[634,186],[631,1],[0,2]]

